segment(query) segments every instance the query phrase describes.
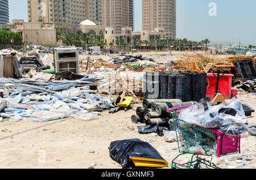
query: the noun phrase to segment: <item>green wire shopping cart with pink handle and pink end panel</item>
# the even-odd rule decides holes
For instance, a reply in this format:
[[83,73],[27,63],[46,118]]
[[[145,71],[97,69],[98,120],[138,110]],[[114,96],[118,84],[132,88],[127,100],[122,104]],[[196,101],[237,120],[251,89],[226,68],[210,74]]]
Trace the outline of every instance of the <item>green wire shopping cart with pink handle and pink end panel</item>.
[[[224,135],[213,128],[205,128],[203,126],[187,123],[179,119],[181,110],[189,108],[189,106],[180,106],[177,108],[167,109],[172,114],[174,126],[177,136],[177,144],[180,155],[176,156],[172,161],[172,168],[188,168],[188,169],[219,169],[213,162],[212,157],[230,155],[240,153],[241,136]],[[175,162],[178,157],[192,154],[191,160],[184,164]],[[210,160],[199,156],[210,157]]]

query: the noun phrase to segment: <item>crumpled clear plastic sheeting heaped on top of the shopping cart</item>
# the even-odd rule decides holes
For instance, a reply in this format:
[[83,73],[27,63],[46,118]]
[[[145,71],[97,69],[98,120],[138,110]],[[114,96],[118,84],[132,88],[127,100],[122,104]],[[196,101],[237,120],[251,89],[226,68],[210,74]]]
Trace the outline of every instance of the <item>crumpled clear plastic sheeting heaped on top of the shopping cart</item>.
[[203,104],[197,103],[179,114],[179,119],[206,128],[215,128],[222,134],[237,136],[249,130],[247,117],[240,101],[232,99],[230,104],[209,106],[203,112]]

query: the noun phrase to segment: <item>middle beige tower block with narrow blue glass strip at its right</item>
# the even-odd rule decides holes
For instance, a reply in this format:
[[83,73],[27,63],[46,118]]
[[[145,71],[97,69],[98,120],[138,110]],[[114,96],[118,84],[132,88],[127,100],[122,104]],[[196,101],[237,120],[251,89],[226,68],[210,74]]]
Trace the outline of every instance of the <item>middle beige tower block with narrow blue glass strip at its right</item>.
[[103,25],[120,35],[123,27],[134,29],[134,0],[102,0]]

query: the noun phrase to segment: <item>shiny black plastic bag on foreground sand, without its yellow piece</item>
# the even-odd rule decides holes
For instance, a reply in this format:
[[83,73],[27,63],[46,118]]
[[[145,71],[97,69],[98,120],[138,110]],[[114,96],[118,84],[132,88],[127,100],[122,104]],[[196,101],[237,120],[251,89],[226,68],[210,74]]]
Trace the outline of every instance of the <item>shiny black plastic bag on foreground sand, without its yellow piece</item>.
[[109,146],[109,154],[114,161],[122,165],[122,168],[134,165],[133,162],[130,161],[130,157],[164,160],[154,147],[139,139],[126,139],[112,142]]

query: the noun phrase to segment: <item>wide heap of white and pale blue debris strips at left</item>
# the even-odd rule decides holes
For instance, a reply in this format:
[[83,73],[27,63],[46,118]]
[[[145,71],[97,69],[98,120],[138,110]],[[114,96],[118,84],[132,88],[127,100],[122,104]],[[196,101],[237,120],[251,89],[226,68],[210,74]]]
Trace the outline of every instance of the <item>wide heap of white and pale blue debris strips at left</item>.
[[1,78],[1,121],[97,119],[99,112],[115,107],[115,96],[101,96],[90,90],[97,79],[89,75],[79,80],[53,80],[51,83]]

